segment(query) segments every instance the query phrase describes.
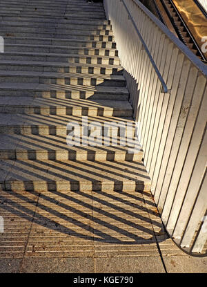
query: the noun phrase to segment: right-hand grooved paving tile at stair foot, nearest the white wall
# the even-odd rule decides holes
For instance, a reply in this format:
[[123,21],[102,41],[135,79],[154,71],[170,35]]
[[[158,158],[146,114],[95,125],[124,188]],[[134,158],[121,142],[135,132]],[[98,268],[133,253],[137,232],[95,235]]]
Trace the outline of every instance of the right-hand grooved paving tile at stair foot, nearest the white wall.
[[159,256],[155,234],[141,193],[92,192],[95,237],[106,232],[104,241],[95,240],[95,257]]

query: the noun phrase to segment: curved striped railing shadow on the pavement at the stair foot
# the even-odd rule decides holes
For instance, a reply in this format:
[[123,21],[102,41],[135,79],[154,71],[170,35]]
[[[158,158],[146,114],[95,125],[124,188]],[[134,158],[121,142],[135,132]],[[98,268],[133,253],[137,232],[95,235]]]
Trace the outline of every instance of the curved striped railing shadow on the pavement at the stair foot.
[[[33,168],[34,166],[32,163],[30,165],[24,161],[21,162],[24,166],[24,178],[22,176],[21,180],[27,180],[28,176],[31,175],[29,172],[30,167]],[[88,168],[88,163],[85,163],[86,171]],[[47,170],[47,163],[45,163],[46,170],[48,174],[50,171]],[[56,176],[61,174],[61,169],[55,167],[57,169]],[[70,166],[65,164],[65,168],[68,169]],[[42,172],[42,170],[41,170]],[[97,173],[99,171],[97,170]],[[53,176],[55,174],[53,173]],[[12,176],[12,175],[11,175]],[[39,175],[39,169],[37,168],[36,174],[39,180],[48,180],[46,176]],[[63,176],[61,176],[63,178]],[[70,178],[64,178],[65,180],[70,180]],[[88,178],[87,178],[88,179]],[[157,212],[154,212],[152,209],[155,208],[151,201],[144,199],[141,192],[135,194],[128,194],[127,192],[113,191],[113,192],[104,192],[101,190],[93,190],[90,192],[82,192],[79,190],[68,191],[68,192],[60,192],[59,187],[57,186],[57,182],[54,180],[53,182],[50,181],[48,183],[48,192],[50,192],[51,196],[48,196],[47,192],[35,192],[31,188],[32,183],[27,185],[24,182],[24,188],[27,190],[28,186],[28,196],[26,194],[21,194],[21,192],[17,192],[12,190],[12,184],[9,185],[7,183],[6,190],[3,192],[3,196],[0,196],[1,200],[1,208],[3,210],[7,210],[8,212],[14,213],[32,223],[37,223],[38,225],[47,227],[49,226],[50,229],[55,230],[57,232],[61,232],[63,234],[68,234],[73,237],[79,237],[86,240],[92,241],[104,241],[111,243],[119,243],[119,244],[148,244],[148,243],[155,243],[156,236],[159,237],[159,231],[162,229],[161,223],[156,221],[156,218],[159,218]],[[77,183],[78,185],[78,183]],[[78,187],[76,187],[78,189]],[[148,193],[146,193],[148,194]],[[8,196],[7,196],[8,195]],[[37,200],[31,200],[30,196],[36,197]],[[10,199],[10,196],[15,199]],[[81,196],[82,199],[79,199]],[[125,196],[123,198],[123,196]],[[150,194],[148,194],[150,196]],[[41,201],[39,201],[41,198]],[[131,201],[132,198],[132,201]],[[90,203],[88,203],[88,200]],[[112,200],[112,203],[110,202]],[[67,204],[67,201],[70,202],[70,205]],[[135,202],[134,202],[135,201]],[[38,208],[38,210],[47,212],[50,216],[56,216],[60,221],[64,220],[66,223],[72,223],[77,227],[81,227],[82,230],[87,232],[91,232],[91,235],[86,235],[83,232],[77,232],[73,229],[70,229],[63,224],[59,223],[58,220],[54,221],[50,219],[50,216],[43,216],[37,210],[34,214],[34,210],[28,208],[28,206],[24,206],[23,203],[30,203],[31,206]],[[140,204],[141,203],[141,204]],[[51,204],[54,206],[58,206],[59,208],[65,210],[66,212],[72,212],[72,214],[80,216],[80,220],[75,219],[75,216],[68,216],[67,214],[60,212],[58,208],[52,208]],[[121,204],[121,206],[119,205]],[[79,208],[77,208],[77,205]],[[101,207],[99,207],[101,205]],[[148,208],[146,206],[150,206]],[[86,211],[88,210],[88,212]],[[95,216],[94,213],[98,214],[99,216]],[[118,213],[118,214],[117,214]],[[121,215],[119,215],[119,213]],[[126,217],[125,217],[126,216]],[[107,219],[113,220],[115,223],[109,223]],[[129,218],[129,219],[128,219]],[[86,224],[83,221],[88,220]],[[133,219],[133,220],[132,220]],[[141,224],[137,222],[141,221]],[[120,227],[117,223],[124,225],[124,227]],[[120,240],[119,236],[112,237],[111,234],[107,232],[103,232],[99,228],[96,228],[95,225],[101,226],[101,228],[107,228],[110,232],[116,232],[120,236],[126,237],[127,240]],[[94,226],[92,226],[94,225]],[[152,228],[152,225],[159,229],[159,231],[155,231]],[[132,230],[136,230],[136,232],[130,232],[129,228]],[[141,236],[137,235],[137,232],[141,232]],[[96,234],[99,234],[97,236]],[[145,238],[147,237],[147,238]],[[165,238],[166,239],[166,238]]]

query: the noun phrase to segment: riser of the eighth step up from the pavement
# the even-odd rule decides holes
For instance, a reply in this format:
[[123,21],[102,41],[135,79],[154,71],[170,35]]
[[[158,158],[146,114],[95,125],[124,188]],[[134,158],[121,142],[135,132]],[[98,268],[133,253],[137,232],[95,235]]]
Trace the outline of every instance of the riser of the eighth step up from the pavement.
[[61,63],[77,63],[77,64],[103,64],[103,65],[119,65],[119,59],[103,59],[101,57],[79,56],[79,57],[59,57],[59,56],[39,56],[39,55],[7,55],[6,53],[0,54],[1,60],[17,60],[17,61],[37,61],[37,62],[61,62]]

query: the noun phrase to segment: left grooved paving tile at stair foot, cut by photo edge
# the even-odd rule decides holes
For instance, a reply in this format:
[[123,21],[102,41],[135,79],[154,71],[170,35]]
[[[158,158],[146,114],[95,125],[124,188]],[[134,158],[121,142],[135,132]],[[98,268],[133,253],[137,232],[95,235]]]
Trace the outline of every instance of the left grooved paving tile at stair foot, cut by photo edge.
[[0,215],[4,230],[0,233],[0,258],[23,258],[39,195],[30,192],[1,191]]

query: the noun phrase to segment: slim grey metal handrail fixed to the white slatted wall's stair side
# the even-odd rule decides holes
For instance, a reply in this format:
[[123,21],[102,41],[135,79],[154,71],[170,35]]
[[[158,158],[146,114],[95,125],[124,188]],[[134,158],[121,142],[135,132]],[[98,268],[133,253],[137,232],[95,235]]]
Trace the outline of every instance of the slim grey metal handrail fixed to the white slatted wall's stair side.
[[124,4],[124,8],[126,9],[126,11],[128,12],[128,17],[129,19],[132,21],[132,24],[137,32],[137,35],[139,36],[139,39],[141,41],[141,44],[144,46],[144,49],[146,50],[146,53],[150,59],[150,62],[153,66],[153,68],[155,69],[155,72],[157,73],[157,77],[159,78],[159,81],[161,82],[161,85],[163,87],[163,93],[170,93],[170,90],[168,89],[165,81],[164,81],[164,78],[161,76],[161,73],[159,73],[159,69],[157,68],[156,64],[155,64],[155,61],[154,59],[152,58],[151,54],[150,54],[150,51],[148,50],[148,47],[146,46],[145,44],[145,41],[144,39],[141,37],[141,34],[139,33],[139,30],[137,28],[137,25],[135,24],[135,21],[132,17],[132,15],[130,14],[130,11],[128,10],[128,7],[126,6],[126,2],[125,0],[120,0],[120,2],[122,2]]

